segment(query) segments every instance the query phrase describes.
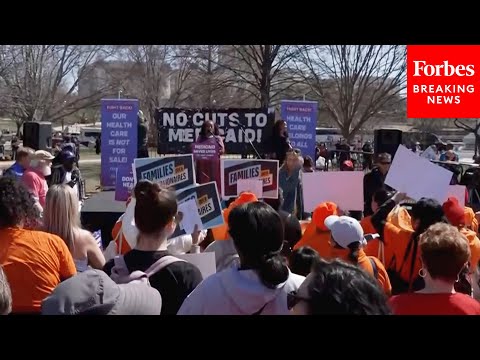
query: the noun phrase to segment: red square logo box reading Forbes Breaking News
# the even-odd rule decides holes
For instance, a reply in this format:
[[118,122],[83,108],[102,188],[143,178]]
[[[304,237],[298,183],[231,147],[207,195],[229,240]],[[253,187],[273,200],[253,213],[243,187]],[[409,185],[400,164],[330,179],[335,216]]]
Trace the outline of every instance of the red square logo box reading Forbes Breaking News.
[[408,45],[409,118],[480,117],[480,45]]

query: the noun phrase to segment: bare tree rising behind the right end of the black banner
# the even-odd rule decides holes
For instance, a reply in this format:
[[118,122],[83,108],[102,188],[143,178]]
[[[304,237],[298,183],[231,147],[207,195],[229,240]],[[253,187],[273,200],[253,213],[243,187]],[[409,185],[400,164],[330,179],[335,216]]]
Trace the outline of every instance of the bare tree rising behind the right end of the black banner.
[[295,84],[290,65],[297,53],[290,45],[230,45],[222,50],[219,65],[230,73],[229,86],[269,107]]

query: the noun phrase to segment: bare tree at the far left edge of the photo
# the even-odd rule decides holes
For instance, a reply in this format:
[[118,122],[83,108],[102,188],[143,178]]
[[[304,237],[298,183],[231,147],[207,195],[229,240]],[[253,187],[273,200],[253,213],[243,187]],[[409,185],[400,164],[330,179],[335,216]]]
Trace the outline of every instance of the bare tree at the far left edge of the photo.
[[97,103],[110,84],[84,96],[79,82],[91,76],[94,62],[114,48],[101,45],[3,45],[0,50],[0,107],[15,120],[56,122]]

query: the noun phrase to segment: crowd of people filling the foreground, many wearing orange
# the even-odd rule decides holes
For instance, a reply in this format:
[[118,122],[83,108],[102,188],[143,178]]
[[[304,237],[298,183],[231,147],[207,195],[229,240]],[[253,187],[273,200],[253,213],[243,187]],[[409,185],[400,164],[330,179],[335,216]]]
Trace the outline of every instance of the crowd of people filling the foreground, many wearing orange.
[[[313,159],[277,127],[278,199],[243,192],[224,225],[172,238],[175,192],[141,180],[105,249],[82,228],[71,150],[19,148],[0,177],[0,314],[480,315],[480,214],[387,187],[390,154],[365,174],[363,213],[323,202],[307,214]],[[178,257],[202,252],[216,260],[205,278]]]

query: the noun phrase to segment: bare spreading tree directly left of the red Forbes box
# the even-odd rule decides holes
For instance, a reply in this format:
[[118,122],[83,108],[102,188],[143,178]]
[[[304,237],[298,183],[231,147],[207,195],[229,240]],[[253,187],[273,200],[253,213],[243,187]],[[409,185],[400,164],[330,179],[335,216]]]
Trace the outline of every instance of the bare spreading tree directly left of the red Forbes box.
[[301,46],[297,74],[351,138],[382,109],[394,106],[406,86],[401,45]]

